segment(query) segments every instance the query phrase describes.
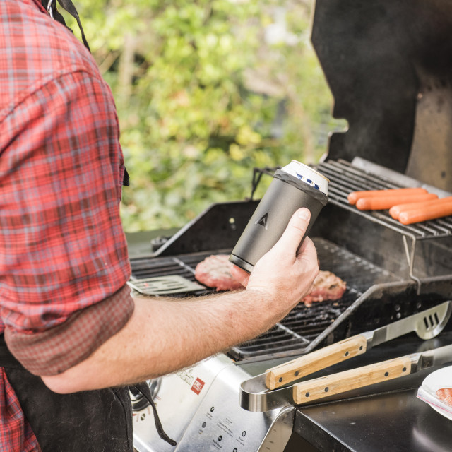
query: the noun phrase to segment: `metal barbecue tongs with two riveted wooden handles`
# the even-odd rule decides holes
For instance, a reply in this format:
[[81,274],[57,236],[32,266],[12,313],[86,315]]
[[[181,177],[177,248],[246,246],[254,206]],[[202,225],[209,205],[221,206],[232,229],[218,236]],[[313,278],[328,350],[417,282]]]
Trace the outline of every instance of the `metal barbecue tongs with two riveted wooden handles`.
[[[245,410],[254,412],[273,410],[292,404],[302,405],[355,388],[414,374],[438,364],[452,362],[452,345],[446,345],[427,352],[413,353],[285,386],[287,383],[345,361],[345,359],[362,355],[371,347],[412,331],[415,331],[424,340],[434,338],[444,329],[451,313],[452,302],[444,302],[374,331],[352,336],[268,369],[264,374],[242,383],[240,405]],[[285,387],[281,388],[281,386]]]

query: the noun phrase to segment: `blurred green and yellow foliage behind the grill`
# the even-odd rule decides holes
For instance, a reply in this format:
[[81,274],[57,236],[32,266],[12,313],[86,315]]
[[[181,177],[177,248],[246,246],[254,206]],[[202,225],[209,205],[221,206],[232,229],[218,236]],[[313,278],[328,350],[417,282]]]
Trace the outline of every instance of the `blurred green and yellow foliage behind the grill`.
[[[316,162],[326,150],[326,134],[337,124],[309,44],[310,5],[78,0],[76,6],[117,100],[131,174],[121,206],[126,230],[182,226],[211,203],[249,196],[253,167]],[[281,11],[283,38],[268,43],[265,33],[281,25]]]

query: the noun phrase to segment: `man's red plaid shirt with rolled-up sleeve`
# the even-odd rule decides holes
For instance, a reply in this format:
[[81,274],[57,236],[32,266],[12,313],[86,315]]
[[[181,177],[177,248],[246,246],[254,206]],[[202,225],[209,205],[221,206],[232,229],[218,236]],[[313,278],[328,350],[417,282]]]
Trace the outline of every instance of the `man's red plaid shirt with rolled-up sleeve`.
[[[1,0],[0,333],[33,374],[81,362],[131,316],[123,174],[88,50],[38,0]],[[3,369],[0,449],[40,450]]]

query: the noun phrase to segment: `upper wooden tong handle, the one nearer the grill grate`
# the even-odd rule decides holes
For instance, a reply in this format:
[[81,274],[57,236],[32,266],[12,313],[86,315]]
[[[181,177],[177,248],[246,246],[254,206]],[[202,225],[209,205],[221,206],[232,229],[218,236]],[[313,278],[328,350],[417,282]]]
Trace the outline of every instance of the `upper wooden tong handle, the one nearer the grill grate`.
[[338,343],[328,345],[292,361],[268,369],[266,386],[269,389],[280,388],[302,376],[326,369],[345,359],[350,359],[366,352],[367,340],[363,335],[352,336]]

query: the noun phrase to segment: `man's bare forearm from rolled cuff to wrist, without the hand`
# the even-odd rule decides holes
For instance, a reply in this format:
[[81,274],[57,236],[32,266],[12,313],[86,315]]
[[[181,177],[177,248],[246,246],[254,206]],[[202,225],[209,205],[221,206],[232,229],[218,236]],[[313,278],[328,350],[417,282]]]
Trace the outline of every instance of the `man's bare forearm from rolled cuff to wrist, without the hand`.
[[265,295],[253,290],[200,299],[137,297],[135,302],[119,333],[63,374],[43,376],[44,383],[59,393],[136,383],[198,362],[280,320],[270,314],[275,310],[268,309]]

